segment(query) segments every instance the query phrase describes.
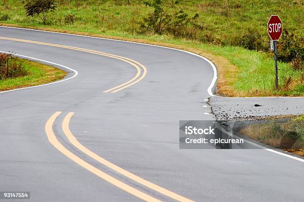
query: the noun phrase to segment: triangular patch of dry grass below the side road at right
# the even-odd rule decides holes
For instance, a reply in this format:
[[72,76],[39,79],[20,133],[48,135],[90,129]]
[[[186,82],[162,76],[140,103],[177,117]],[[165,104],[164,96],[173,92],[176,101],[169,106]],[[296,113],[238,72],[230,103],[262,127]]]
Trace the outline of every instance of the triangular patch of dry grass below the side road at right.
[[240,133],[272,147],[304,156],[304,114],[283,121],[252,124]]

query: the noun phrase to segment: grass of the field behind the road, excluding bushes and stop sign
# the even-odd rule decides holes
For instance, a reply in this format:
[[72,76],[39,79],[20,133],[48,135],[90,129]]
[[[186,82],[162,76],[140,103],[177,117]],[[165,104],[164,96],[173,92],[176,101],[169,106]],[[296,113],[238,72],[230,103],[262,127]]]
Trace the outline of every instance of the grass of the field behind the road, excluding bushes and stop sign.
[[[217,65],[217,93],[225,96],[304,96],[301,73],[286,62],[279,62],[281,88],[274,90],[273,58],[266,32],[269,16],[279,14],[289,33],[304,37],[303,1],[183,0],[177,7],[189,16],[199,14],[201,29],[193,30],[191,39],[170,34],[141,34],[143,18],[153,11],[142,0],[130,0],[129,5],[126,0],[60,0],[46,25],[38,17],[27,17],[20,1],[7,0],[6,7],[3,1],[0,4],[0,23],[193,51]],[[69,15],[74,15],[73,23],[66,22],[65,17]],[[248,33],[258,36],[255,43],[260,50],[242,48],[240,39]]]

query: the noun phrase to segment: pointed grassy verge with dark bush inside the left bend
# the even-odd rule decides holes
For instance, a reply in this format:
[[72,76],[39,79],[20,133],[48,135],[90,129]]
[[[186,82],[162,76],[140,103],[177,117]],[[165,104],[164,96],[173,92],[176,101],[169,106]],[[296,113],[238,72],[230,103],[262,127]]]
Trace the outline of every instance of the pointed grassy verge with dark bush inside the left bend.
[[0,91],[46,84],[66,75],[53,66],[0,53]]

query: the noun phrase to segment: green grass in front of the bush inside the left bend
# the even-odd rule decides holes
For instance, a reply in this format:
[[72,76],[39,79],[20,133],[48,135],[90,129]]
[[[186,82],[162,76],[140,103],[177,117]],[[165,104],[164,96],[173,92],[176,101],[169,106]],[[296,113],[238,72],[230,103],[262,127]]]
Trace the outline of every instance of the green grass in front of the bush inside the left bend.
[[26,59],[18,60],[22,61],[23,67],[28,72],[28,75],[0,80],[0,91],[51,83],[63,79],[67,75],[67,72],[50,65]]

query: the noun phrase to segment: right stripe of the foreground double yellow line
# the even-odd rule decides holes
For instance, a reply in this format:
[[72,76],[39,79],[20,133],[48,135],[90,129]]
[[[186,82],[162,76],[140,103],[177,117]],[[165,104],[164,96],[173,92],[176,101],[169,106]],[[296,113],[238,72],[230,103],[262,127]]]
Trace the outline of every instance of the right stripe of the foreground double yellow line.
[[101,164],[117,171],[118,173],[134,180],[135,182],[138,182],[156,192],[159,192],[167,197],[170,197],[176,201],[179,202],[193,202],[190,199],[187,199],[181,195],[175,194],[174,192],[171,192],[167,189],[164,189],[156,184],[153,184],[152,182],[149,182],[133,173],[130,173],[129,171],[107,161],[106,159],[100,157],[99,155],[97,155],[94,152],[91,152],[90,150],[88,150],[86,147],[84,147],[83,145],[81,145],[77,139],[75,138],[75,136],[72,134],[72,132],[70,131],[69,125],[70,125],[70,120],[71,117],[73,116],[74,112],[70,112],[68,113],[68,115],[64,118],[63,123],[62,123],[62,129],[65,133],[65,135],[68,137],[69,141],[76,147],[78,148],[81,152],[84,152],[85,154],[87,154],[88,156],[92,157],[93,159],[97,160],[98,162],[100,162]]

